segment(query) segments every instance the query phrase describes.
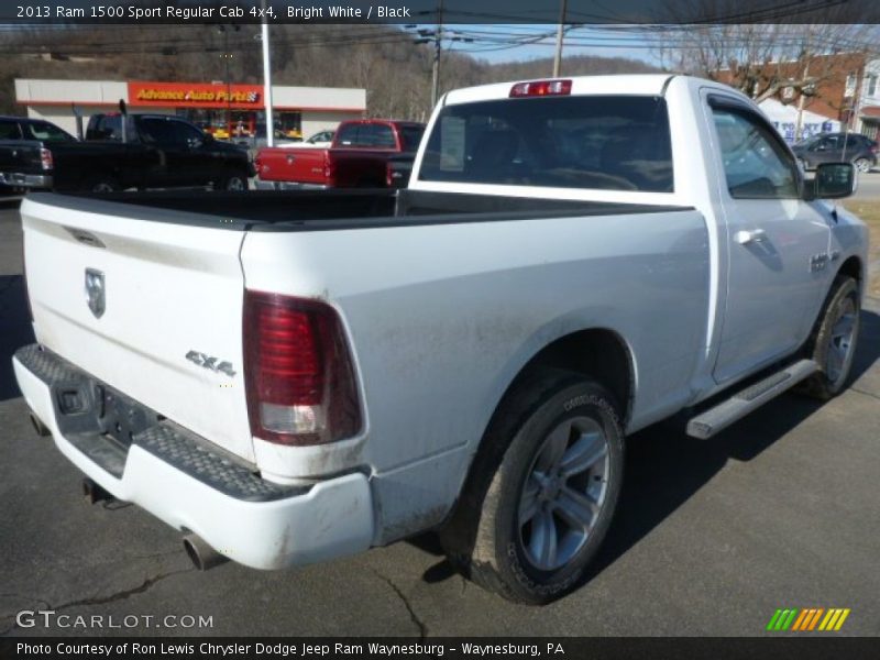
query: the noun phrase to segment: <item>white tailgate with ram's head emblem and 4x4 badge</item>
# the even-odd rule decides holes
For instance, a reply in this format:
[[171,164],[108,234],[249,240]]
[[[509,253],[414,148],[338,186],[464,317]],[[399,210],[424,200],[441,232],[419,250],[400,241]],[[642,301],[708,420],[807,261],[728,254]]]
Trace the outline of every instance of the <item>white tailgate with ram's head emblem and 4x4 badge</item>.
[[[85,201],[22,202],[37,341],[253,461],[242,373],[245,233],[205,217],[174,222],[175,211]],[[86,206],[95,210],[78,208]]]

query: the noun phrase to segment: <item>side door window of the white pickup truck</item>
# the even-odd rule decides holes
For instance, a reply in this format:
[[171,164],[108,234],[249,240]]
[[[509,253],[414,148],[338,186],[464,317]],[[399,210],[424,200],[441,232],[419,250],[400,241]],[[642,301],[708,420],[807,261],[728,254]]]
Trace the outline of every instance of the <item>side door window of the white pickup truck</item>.
[[727,189],[735,199],[790,199],[798,195],[798,166],[763,121],[748,110],[712,109]]

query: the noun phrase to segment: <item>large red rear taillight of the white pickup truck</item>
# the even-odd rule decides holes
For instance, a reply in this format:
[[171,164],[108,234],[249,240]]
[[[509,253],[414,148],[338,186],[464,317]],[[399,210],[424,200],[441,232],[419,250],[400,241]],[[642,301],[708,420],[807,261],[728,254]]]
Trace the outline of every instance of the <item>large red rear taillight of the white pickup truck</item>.
[[321,444],[361,430],[351,353],[326,302],[245,292],[244,372],[256,438]]

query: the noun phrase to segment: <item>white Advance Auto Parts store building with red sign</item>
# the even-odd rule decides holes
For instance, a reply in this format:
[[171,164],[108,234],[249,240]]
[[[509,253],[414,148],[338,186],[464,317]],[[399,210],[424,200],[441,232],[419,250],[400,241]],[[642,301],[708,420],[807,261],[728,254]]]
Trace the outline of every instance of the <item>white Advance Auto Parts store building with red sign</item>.
[[[277,138],[308,138],[366,112],[364,89],[273,86],[272,95]],[[16,79],[15,97],[28,117],[46,119],[74,135],[77,113],[85,125],[89,116],[118,111],[124,100],[132,112],[184,117],[219,139],[265,138],[262,85]]]

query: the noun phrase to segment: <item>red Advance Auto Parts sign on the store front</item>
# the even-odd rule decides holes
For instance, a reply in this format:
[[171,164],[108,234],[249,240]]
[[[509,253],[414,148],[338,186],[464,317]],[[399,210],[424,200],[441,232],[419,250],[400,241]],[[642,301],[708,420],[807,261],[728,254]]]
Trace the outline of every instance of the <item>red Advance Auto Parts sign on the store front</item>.
[[223,82],[129,82],[130,106],[262,108],[263,88]]

